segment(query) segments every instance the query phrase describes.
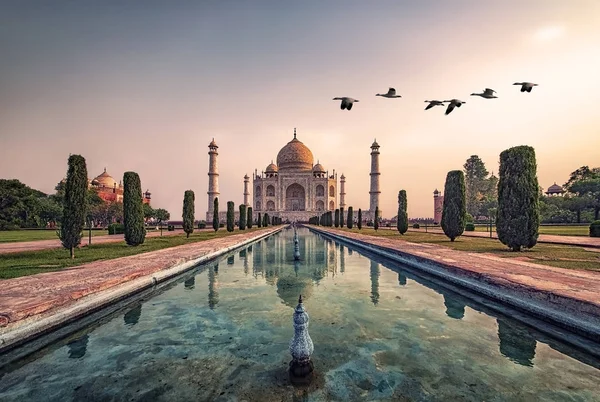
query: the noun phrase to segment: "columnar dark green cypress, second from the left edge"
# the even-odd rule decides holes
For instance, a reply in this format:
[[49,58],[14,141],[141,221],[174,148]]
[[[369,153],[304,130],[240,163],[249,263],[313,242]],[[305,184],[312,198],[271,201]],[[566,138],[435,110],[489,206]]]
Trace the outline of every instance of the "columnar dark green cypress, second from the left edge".
[[140,176],[135,172],[123,174],[123,224],[125,243],[130,246],[144,243],[146,228],[144,228],[142,184]]

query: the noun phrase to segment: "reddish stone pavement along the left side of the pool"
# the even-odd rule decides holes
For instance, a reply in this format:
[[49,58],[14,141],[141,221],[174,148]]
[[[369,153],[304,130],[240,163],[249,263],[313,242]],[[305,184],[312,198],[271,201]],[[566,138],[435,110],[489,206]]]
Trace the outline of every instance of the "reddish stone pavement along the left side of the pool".
[[0,334],[18,326],[19,322],[25,319],[52,315],[85,296],[276,232],[281,228],[282,226],[269,227],[149,253],[91,262],[62,271],[2,280]]

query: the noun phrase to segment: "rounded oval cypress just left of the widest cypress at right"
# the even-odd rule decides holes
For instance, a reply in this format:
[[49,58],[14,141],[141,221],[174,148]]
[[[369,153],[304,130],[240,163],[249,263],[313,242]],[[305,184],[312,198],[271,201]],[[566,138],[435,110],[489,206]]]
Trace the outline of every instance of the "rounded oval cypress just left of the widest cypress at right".
[[462,170],[452,170],[446,175],[444,185],[444,207],[441,226],[450,241],[463,234],[467,219],[465,174]]

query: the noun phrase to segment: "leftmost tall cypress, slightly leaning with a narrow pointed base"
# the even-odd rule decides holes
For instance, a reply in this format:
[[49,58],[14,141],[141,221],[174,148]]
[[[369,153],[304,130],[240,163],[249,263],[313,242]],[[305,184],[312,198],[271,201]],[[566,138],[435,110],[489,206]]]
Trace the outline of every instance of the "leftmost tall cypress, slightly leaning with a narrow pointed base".
[[63,217],[59,237],[64,248],[75,258],[75,247],[81,243],[88,191],[87,166],[81,155],[69,156]]

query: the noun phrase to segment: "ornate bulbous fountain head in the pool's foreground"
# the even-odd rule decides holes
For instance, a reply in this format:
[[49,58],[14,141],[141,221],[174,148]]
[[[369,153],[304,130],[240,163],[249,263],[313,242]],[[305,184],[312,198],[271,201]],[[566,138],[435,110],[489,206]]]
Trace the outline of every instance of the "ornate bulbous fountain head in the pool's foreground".
[[312,380],[314,371],[310,355],[314,345],[308,334],[308,314],[302,304],[302,295],[298,298],[298,305],[294,310],[294,337],[290,341],[290,381],[293,384],[308,384]]

